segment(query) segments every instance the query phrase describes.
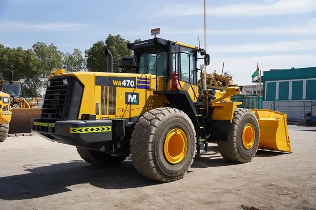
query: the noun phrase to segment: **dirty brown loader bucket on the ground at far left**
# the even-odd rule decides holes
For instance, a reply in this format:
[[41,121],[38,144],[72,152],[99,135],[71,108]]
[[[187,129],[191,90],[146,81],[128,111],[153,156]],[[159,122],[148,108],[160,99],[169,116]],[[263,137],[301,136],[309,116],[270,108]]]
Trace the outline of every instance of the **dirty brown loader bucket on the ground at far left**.
[[16,108],[11,109],[12,118],[9,123],[9,134],[30,133],[31,119],[40,118],[41,108]]

